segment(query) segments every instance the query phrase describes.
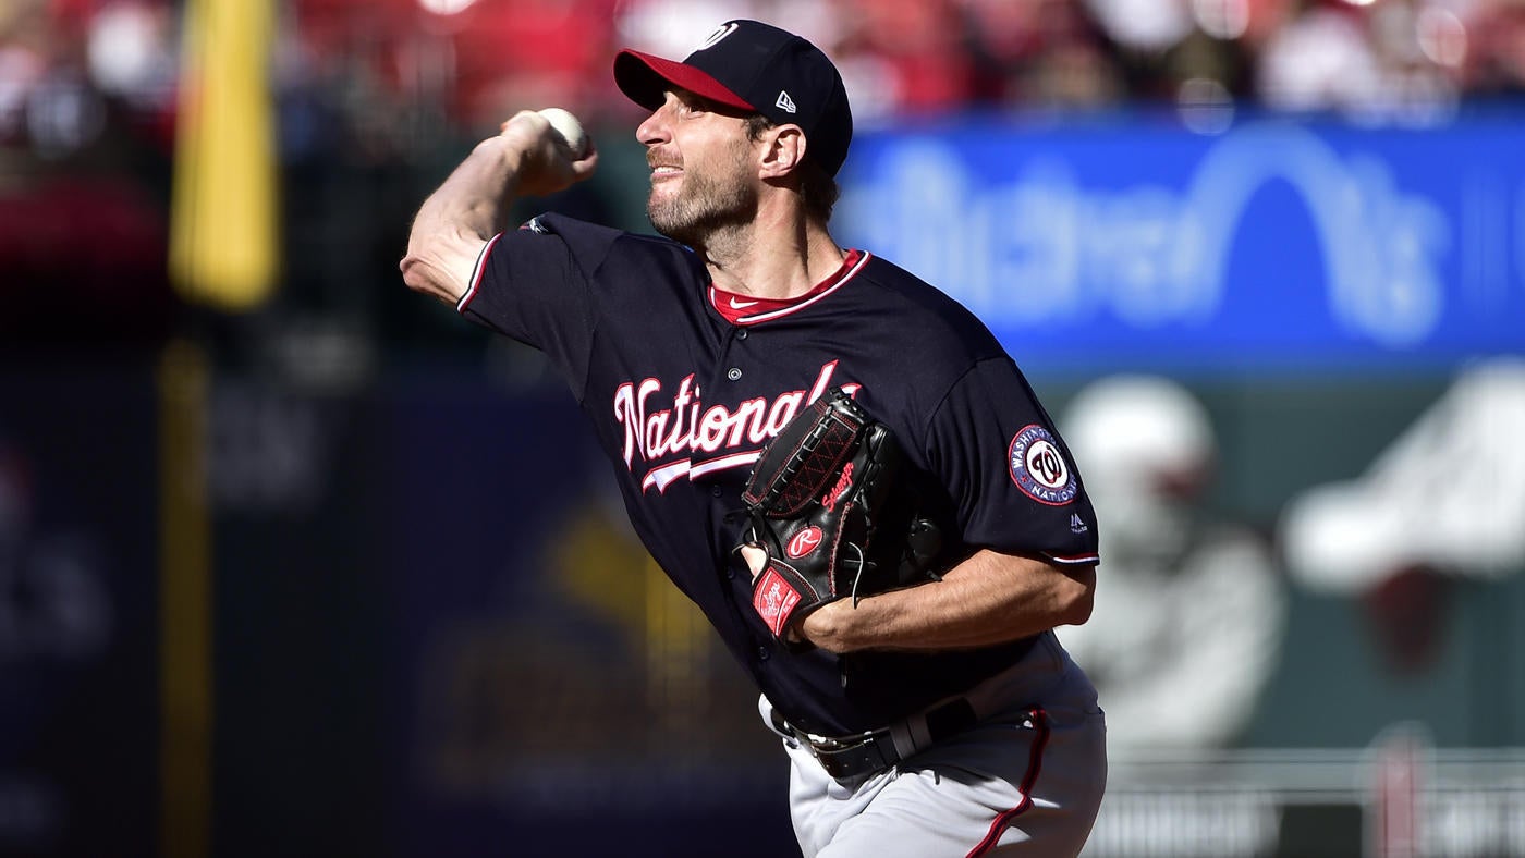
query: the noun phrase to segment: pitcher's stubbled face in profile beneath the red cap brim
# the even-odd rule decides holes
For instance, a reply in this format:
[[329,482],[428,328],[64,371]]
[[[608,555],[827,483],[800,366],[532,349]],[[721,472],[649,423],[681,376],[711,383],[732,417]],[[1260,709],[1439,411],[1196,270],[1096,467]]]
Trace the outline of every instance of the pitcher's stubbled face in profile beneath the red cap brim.
[[702,247],[726,227],[756,215],[753,143],[746,119],[692,93],[666,102],[636,130],[647,146],[651,195],[647,215],[662,235]]

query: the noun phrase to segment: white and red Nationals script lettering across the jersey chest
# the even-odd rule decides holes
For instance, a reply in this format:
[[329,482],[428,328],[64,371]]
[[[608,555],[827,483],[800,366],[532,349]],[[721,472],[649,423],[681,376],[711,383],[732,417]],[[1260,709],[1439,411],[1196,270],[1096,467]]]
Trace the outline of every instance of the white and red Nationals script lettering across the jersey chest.
[[[631,472],[644,468],[640,489],[656,488],[657,492],[682,477],[692,480],[727,468],[747,468],[770,437],[831,387],[836,370],[837,361],[831,361],[820,367],[808,390],[743,399],[735,410],[706,408],[694,384],[695,373],[679,381],[671,399],[659,378],[627,381],[615,389],[615,421],[625,430],[625,466]],[[859,387],[842,384],[848,395]],[[671,407],[654,407],[666,402]]]

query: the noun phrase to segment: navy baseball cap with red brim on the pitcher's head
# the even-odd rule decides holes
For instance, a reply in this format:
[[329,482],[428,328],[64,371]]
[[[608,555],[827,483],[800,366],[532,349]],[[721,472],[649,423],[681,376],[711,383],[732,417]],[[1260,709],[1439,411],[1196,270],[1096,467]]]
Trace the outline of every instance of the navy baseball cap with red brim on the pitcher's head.
[[726,21],[682,62],[625,49],[615,56],[615,82],[630,101],[656,110],[677,87],[709,101],[761,113],[805,131],[807,158],[830,175],[852,142],[852,111],[837,67],[804,38],[759,21]]

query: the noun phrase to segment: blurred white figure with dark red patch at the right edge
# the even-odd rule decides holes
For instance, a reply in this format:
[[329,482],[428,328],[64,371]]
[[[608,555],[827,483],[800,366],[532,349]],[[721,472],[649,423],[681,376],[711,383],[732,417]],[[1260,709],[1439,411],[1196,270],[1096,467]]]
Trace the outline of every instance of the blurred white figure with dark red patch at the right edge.
[[1359,599],[1391,669],[1432,668],[1455,584],[1525,571],[1522,442],[1525,360],[1464,367],[1366,472],[1287,503],[1292,581]]

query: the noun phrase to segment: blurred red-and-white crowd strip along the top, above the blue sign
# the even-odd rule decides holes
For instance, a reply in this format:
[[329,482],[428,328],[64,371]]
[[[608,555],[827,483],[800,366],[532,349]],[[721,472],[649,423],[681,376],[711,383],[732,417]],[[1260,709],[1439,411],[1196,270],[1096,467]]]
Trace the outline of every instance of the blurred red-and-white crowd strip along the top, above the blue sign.
[[[113,113],[169,145],[183,0],[8,0],[0,145],[85,146]],[[613,119],[610,55],[685,55],[753,17],[837,58],[860,119],[1231,102],[1412,120],[1525,87],[1525,0],[282,0],[284,143],[400,116],[496,128],[523,105]],[[613,113],[615,116],[610,116]],[[389,128],[392,131],[389,131]],[[328,136],[328,137],[325,137]],[[332,140],[329,140],[332,142]]]

